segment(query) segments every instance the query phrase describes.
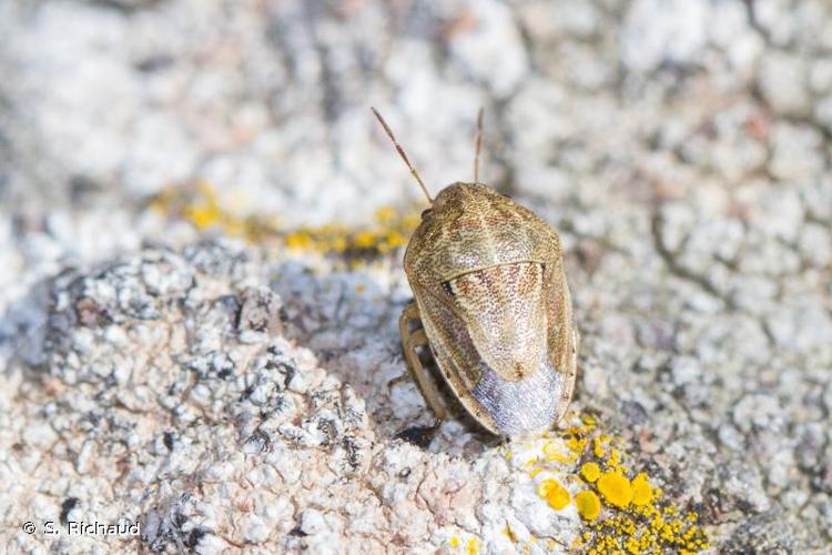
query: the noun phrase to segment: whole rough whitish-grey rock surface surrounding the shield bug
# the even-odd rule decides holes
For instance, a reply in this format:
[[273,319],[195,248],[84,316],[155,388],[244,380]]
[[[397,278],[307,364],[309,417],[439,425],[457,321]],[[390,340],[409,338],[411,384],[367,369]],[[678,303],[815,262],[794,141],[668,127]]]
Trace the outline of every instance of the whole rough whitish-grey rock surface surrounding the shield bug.
[[[595,487],[602,432],[713,549],[832,545],[828,3],[14,0],[0,36],[0,544],[591,551],[545,484]],[[434,192],[484,105],[481,175],[560,232],[571,440],[432,435],[397,243],[271,233],[418,202],[371,104]]]

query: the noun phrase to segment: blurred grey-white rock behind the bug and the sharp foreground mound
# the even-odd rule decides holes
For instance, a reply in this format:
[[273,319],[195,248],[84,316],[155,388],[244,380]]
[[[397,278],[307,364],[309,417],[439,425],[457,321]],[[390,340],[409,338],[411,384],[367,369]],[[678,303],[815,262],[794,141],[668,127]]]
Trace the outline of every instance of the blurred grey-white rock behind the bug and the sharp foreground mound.
[[723,545],[829,545],[829,1],[6,0],[0,41],[0,309],[193,241],[152,206],[197,183],[286,230],[418,206],[369,107],[434,193],[484,107],[483,181],[568,251],[578,406]]

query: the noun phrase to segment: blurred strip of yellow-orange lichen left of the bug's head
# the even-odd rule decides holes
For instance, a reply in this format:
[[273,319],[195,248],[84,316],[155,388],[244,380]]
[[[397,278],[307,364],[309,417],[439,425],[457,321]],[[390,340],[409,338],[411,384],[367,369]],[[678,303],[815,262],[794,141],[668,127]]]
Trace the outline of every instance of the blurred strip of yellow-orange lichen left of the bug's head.
[[294,251],[339,254],[351,261],[404,246],[419,223],[417,213],[399,213],[386,206],[376,211],[373,224],[357,229],[327,224],[284,230],[274,219],[231,213],[204,181],[165,190],[152,200],[151,208],[168,218],[187,221],[199,231],[217,230],[257,243],[272,240]]

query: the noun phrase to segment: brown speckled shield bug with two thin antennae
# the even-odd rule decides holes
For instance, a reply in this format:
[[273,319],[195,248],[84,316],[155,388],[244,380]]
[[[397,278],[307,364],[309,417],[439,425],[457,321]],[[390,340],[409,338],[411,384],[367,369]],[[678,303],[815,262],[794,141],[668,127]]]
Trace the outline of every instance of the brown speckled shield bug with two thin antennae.
[[481,110],[474,182],[453,183],[435,199],[390,128],[373,113],[430,203],[405,252],[415,301],[399,317],[405,360],[427,403],[446,417],[419,359],[423,347],[463,406],[491,433],[551,428],[572,396],[579,344],[558,234],[479,182]]

